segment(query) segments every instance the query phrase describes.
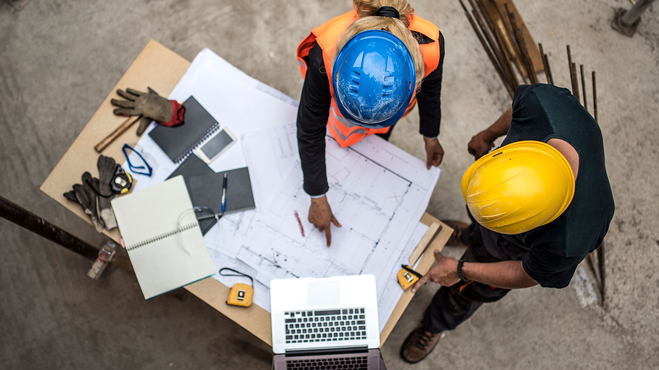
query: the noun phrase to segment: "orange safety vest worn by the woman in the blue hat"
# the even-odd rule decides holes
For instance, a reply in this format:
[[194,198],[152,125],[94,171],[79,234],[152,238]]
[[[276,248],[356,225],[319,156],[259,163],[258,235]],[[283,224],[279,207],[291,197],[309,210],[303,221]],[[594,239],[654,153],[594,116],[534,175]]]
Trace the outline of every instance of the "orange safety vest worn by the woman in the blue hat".
[[[331,136],[333,136],[333,138],[339,143],[339,145],[341,145],[341,147],[353,145],[368,135],[384,134],[391,129],[391,127],[364,128],[362,126],[357,126],[349,122],[343,117],[343,115],[341,115],[339,107],[337,107],[336,104],[334,88],[331,81],[332,73],[328,66],[331,66],[336,41],[348,28],[348,26],[357,20],[357,18],[358,16],[356,11],[349,11],[348,13],[341,14],[335,18],[331,18],[321,26],[314,28],[309,36],[306,36],[306,38],[302,40],[300,45],[297,47],[297,59],[300,62],[300,72],[302,73],[302,77],[306,76],[307,69],[306,62],[304,62],[303,58],[309,55],[309,51],[314,46],[314,44],[318,43],[320,49],[323,51],[323,62],[325,63],[325,68],[328,69],[327,75],[329,81],[329,93],[331,94],[328,128]],[[435,41],[419,45],[419,48],[421,49],[421,55],[423,55],[425,78],[428,76],[428,74],[430,74],[430,72],[435,70],[440,63],[440,45],[437,41],[440,37],[440,30],[431,22],[428,22],[427,20],[416,15],[412,16],[409,29],[411,31],[424,34],[428,38],[431,38]],[[405,110],[403,117],[409,114],[415,105],[416,93],[410,100],[409,106]]]

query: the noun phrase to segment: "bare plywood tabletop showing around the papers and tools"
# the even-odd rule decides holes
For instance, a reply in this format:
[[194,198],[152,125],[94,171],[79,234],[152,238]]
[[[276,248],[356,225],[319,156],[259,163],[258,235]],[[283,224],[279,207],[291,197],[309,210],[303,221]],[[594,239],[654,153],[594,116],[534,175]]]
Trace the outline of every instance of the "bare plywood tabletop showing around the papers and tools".
[[[125,120],[125,118],[117,117],[112,113],[113,107],[110,105],[110,99],[117,97],[115,91],[117,89],[125,90],[129,87],[139,88],[140,86],[150,86],[162,95],[167,96],[179,82],[188,66],[190,66],[190,62],[183,59],[177,53],[167,49],[167,47],[164,47],[157,41],[149,41],[140,55],[130,65],[127,72],[121,77],[117,86],[105,97],[101,107],[94,113],[92,119],[87,123],[82,132],[80,132],[76,140],[74,140],[62,159],[59,160],[55,169],[45,179],[40,190],[69,209],[69,211],[90,222],[89,217],[84,214],[80,205],[64,198],[63,194],[71,190],[71,179],[76,178],[82,172],[90,171],[93,176],[98,175],[94,173],[98,159],[98,153],[94,151],[94,145]],[[127,141],[133,142],[136,139],[135,130],[131,128],[110,144],[103,151],[103,155],[121,160],[123,158],[123,153],[121,153],[123,143]],[[432,225],[432,223],[438,223],[441,227],[434,234],[434,238],[431,238],[431,235],[426,235],[416,251],[424,250],[426,247],[430,250],[442,250],[451,235],[452,229],[443,225],[428,213],[424,214],[421,222],[428,226]],[[429,232],[436,230],[436,226],[438,225],[431,227]],[[118,241],[120,238],[116,228],[109,232],[105,231],[105,234],[115,241]],[[418,255],[418,253],[416,254]],[[420,273],[426,273],[433,262],[433,253],[425,253],[418,265],[418,271]],[[226,300],[229,295],[229,287],[214,278],[206,278],[189,284],[185,286],[185,289],[244,327],[244,329],[258,336],[264,342],[272,345],[270,313],[265,309],[258,307],[258,305],[252,305],[248,308],[227,305]],[[389,317],[384,330],[380,334],[380,342],[384,344],[411,299],[412,294],[409,290],[403,293],[391,317]]]

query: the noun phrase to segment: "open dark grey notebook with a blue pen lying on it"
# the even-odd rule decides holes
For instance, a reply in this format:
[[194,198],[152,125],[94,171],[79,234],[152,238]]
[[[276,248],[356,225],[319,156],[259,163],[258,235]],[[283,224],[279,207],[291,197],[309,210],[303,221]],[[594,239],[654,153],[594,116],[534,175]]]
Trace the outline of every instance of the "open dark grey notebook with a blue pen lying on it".
[[[196,155],[190,155],[168,178],[183,175],[194,207],[208,207],[213,213],[222,211],[222,181],[224,172],[215,173]],[[227,171],[227,209],[225,213],[254,209],[252,182],[247,167]],[[209,212],[197,213],[199,226],[206,234],[217,220]],[[203,218],[202,217],[207,217]]]

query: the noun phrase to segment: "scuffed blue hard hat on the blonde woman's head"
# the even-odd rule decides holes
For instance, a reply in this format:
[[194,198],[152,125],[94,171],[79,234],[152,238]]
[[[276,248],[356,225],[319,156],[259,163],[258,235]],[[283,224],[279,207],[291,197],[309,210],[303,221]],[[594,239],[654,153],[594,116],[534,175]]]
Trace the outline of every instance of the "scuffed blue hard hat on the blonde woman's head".
[[395,124],[416,88],[412,54],[401,39],[383,30],[353,36],[333,67],[332,87],[341,115],[366,128]]

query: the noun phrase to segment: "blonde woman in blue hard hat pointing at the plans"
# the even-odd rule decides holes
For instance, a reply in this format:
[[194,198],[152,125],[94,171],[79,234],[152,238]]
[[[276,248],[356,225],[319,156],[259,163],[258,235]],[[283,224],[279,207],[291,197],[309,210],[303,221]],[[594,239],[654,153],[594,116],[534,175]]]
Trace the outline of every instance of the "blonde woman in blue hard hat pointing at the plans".
[[297,139],[308,219],[324,231],[341,227],[329,207],[325,134],[341,147],[368,135],[388,140],[392,126],[418,102],[426,167],[442,162],[440,92],[444,37],[413,14],[407,0],[353,0],[355,10],[314,28],[297,48],[304,86]]

